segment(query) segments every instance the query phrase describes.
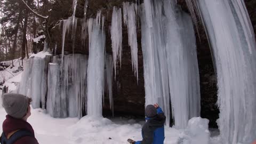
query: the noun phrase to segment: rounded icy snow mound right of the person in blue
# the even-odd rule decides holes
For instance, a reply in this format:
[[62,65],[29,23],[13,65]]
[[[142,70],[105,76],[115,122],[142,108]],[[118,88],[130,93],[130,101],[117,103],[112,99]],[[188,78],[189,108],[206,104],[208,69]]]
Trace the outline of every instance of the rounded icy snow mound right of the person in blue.
[[193,117],[188,121],[188,126],[180,134],[179,144],[209,144],[209,120],[201,117]]

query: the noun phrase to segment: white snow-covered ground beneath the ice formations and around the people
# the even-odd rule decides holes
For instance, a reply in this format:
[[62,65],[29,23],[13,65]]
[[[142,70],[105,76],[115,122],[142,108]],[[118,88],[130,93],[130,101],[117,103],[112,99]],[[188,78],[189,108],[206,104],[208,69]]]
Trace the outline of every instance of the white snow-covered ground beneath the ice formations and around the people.
[[[26,63],[27,60],[24,62]],[[17,84],[21,81],[21,77],[22,71],[8,75],[8,79],[4,85],[9,86],[9,92],[15,92]],[[2,95],[2,91],[0,91],[0,95]],[[2,104],[0,105],[0,125],[3,123],[6,115],[1,106]],[[143,123],[145,123],[138,119],[107,119],[89,116],[85,116],[82,119],[52,118],[43,109],[31,109],[31,113],[32,115],[29,117],[28,122],[33,126],[35,137],[40,144],[128,143],[126,140],[129,138],[142,140],[141,128]],[[2,133],[2,129],[0,129],[0,132]],[[165,127],[165,144],[206,144],[209,136],[207,120],[201,118],[191,119],[186,130]],[[217,143],[220,143],[219,137],[210,139],[209,144]]]

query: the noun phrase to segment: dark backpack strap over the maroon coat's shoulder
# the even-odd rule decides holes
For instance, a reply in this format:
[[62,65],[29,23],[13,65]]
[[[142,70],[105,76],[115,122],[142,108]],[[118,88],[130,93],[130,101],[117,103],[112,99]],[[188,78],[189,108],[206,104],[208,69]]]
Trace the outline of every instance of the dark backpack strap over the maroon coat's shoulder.
[[2,144],[13,144],[15,141],[17,141],[23,137],[27,137],[27,136],[35,138],[35,135],[27,130],[19,130],[19,131],[15,132],[10,137],[10,139],[7,139],[5,133],[3,132],[1,135],[1,143]]

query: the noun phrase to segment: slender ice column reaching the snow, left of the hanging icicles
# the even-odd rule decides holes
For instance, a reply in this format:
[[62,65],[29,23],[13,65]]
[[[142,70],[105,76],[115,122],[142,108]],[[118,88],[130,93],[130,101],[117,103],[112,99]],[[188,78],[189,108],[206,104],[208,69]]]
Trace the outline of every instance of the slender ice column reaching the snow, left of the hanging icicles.
[[[103,22],[102,22],[103,23]],[[101,14],[89,20],[89,61],[87,78],[87,115],[102,116],[102,95],[104,84],[104,55],[106,37],[101,27]],[[92,31],[91,31],[92,30]]]

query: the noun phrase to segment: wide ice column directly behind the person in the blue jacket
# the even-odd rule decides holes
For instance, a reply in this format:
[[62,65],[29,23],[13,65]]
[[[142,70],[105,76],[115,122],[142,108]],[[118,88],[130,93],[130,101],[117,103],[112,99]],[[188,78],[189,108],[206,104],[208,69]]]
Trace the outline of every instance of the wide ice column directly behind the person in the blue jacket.
[[188,120],[200,114],[193,23],[174,1],[154,1],[150,6],[145,4],[141,12],[146,105],[158,102],[166,125],[172,115],[175,127],[185,129]]

